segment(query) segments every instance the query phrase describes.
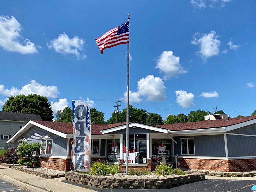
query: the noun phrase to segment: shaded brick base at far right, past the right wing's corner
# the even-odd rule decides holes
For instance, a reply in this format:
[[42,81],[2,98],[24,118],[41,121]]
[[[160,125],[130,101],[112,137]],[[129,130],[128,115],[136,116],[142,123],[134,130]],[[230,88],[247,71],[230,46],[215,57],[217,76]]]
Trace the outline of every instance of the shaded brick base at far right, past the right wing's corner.
[[256,170],[256,159],[229,159],[230,172],[244,172]]

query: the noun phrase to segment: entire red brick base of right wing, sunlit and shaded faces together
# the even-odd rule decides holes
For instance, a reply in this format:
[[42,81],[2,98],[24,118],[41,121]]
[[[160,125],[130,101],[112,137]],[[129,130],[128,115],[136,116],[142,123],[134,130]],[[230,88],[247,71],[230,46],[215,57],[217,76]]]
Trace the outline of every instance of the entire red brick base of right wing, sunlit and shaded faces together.
[[[174,158],[175,161],[175,158]],[[177,158],[180,168],[223,172],[245,172],[256,170],[256,159],[198,159]]]

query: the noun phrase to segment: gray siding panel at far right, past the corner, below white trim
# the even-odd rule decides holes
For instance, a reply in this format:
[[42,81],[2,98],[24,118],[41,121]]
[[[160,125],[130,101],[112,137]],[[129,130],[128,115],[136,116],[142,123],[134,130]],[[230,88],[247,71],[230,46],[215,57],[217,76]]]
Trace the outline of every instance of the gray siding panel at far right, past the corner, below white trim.
[[256,137],[228,135],[228,156],[256,156]]

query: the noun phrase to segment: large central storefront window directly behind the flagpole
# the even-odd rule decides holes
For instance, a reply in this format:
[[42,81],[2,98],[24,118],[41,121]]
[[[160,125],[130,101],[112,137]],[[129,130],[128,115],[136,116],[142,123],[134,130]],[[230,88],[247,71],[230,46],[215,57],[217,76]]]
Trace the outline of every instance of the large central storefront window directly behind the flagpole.
[[[126,135],[123,138],[123,164],[126,162]],[[129,163],[146,164],[147,163],[147,135],[129,134]]]

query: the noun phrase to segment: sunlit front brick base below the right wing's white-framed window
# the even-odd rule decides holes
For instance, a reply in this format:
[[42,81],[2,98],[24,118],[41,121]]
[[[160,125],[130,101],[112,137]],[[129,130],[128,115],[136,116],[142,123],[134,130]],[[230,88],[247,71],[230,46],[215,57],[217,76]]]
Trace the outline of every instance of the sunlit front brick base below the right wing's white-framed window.
[[177,162],[180,162],[180,168],[183,169],[229,171],[228,160],[177,158]]

